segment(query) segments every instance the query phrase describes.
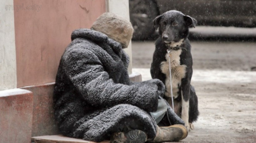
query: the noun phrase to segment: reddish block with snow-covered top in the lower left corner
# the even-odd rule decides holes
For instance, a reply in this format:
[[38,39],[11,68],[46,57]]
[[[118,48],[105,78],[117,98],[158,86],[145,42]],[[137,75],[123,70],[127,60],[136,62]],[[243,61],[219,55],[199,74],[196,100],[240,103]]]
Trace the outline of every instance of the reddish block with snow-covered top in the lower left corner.
[[31,138],[33,93],[0,91],[0,143],[28,143]]

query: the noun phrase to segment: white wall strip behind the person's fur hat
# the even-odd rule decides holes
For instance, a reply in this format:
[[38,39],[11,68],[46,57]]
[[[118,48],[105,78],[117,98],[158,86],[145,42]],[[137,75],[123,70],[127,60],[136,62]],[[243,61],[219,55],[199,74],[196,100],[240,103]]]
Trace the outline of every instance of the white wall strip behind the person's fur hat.
[[[125,17],[130,21],[129,15],[129,0],[106,0],[106,11]],[[130,57],[130,64],[128,67],[129,74],[132,73],[132,54],[131,54],[131,42],[128,48],[125,49],[126,53]]]

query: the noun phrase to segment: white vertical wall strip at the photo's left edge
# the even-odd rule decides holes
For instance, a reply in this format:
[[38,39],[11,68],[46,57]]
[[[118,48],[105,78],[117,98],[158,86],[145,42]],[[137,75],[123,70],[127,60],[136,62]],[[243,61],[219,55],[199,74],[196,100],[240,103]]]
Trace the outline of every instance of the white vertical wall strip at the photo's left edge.
[[0,1],[0,90],[17,86],[14,12],[6,5],[13,5],[13,0]]

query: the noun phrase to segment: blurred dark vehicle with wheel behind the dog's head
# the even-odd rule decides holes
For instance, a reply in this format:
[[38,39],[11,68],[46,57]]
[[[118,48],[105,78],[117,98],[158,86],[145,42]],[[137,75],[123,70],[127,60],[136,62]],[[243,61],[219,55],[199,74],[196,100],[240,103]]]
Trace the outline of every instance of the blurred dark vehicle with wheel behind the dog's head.
[[217,35],[238,38],[238,33],[245,38],[256,36],[255,31],[209,27],[255,28],[255,0],[129,0],[129,6],[130,21],[134,28],[133,40],[136,41],[156,39],[157,32],[152,21],[169,10],[181,11],[197,19],[197,25],[201,27],[191,31],[190,39],[210,39]]

